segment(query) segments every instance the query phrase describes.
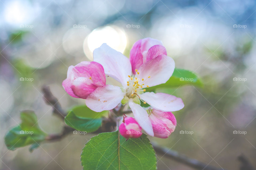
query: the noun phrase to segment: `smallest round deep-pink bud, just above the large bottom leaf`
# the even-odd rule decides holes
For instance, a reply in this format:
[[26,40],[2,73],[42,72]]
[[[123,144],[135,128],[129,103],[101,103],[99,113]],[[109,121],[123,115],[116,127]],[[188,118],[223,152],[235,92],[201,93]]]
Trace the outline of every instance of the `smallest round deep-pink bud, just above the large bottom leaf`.
[[120,134],[128,138],[139,138],[142,135],[142,128],[133,117],[124,116],[123,122],[119,126]]

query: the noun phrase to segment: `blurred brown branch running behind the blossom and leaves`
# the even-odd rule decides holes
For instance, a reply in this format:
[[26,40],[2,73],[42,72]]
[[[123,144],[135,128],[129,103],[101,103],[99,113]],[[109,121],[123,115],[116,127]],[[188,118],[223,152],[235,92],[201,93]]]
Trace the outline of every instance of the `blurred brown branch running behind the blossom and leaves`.
[[[66,112],[63,111],[61,108],[61,105],[58,103],[58,100],[56,97],[53,96],[53,94],[50,91],[50,88],[48,86],[44,86],[42,88],[45,102],[46,104],[52,105],[53,107],[53,113],[61,117],[63,120],[66,116]],[[95,131],[94,133],[103,133],[103,132],[111,132],[116,130],[116,125],[117,125],[117,115],[122,115],[126,111],[121,111],[123,107],[119,109],[119,111],[115,111],[114,109],[112,110],[113,112],[109,113],[108,118],[103,118],[102,120],[102,126]],[[122,112],[122,114],[121,114]],[[127,111],[127,113],[130,113],[131,111]],[[50,134],[46,137],[46,141],[56,141],[56,140],[61,140],[63,137],[65,137],[67,134],[71,133],[75,129],[69,127],[69,126],[64,126],[63,131],[60,134]],[[160,147],[157,144],[153,143],[154,150],[156,151],[157,154],[163,155],[167,158],[171,158],[172,160],[175,160],[177,162],[180,162],[182,164],[185,164],[189,167],[195,168],[195,169],[204,169],[204,170],[223,170],[222,168],[215,168],[210,165],[207,165],[205,163],[199,162],[196,159],[191,159],[188,158],[185,155],[179,154],[176,151],[173,151],[169,148],[166,147]],[[242,163],[240,170],[254,170],[253,166],[250,164],[250,162],[245,158],[245,156],[241,155],[238,157],[240,162]]]

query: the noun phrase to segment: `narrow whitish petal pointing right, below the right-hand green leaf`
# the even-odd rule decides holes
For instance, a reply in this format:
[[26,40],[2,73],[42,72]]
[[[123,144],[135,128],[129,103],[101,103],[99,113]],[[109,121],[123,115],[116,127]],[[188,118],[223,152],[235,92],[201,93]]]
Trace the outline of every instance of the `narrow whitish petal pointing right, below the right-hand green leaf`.
[[161,111],[174,112],[184,107],[184,103],[181,98],[166,93],[146,92],[139,95],[139,97],[153,108]]

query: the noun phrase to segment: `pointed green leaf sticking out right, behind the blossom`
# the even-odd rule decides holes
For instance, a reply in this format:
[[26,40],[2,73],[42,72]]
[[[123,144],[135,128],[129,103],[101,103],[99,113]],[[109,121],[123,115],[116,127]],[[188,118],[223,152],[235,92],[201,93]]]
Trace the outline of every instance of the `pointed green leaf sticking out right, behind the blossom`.
[[157,88],[173,88],[184,85],[193,85],[202,87],[201,80],[189,70],[174,69],[173,75],[165,84],[159,84],[157,86],[146,88],[147,91],[155,91]]

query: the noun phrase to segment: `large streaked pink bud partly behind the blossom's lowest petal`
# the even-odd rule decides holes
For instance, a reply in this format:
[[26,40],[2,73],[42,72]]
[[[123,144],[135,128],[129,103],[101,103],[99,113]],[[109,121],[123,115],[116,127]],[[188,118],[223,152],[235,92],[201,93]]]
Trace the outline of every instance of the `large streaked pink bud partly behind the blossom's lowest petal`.
[[176,118],[171,112],[163,112],[157,109],[150,110],[149,119],[153,126],[154,136],[167,138],[177,125]]

